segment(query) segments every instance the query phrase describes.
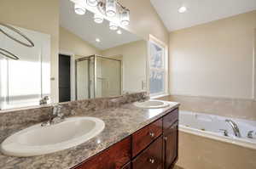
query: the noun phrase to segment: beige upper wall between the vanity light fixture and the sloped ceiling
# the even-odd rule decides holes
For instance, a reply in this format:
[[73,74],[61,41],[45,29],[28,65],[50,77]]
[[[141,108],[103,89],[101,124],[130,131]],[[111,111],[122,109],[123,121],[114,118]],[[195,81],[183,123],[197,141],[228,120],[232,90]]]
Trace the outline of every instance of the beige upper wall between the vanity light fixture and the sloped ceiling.
[[145,40],[148,40],[148,35],[151,34],[168,44],[169,32],[150,0],[120,0],[119,2],[131,10],[131,24],[127,27],[129,31]]

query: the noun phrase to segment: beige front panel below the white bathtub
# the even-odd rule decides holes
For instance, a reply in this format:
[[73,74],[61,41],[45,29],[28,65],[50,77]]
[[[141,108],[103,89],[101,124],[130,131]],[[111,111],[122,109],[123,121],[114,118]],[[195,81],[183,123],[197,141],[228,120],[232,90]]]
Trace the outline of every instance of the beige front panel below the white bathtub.
[[256,150],[179,132],[177,166],[184,169],[253,169]]

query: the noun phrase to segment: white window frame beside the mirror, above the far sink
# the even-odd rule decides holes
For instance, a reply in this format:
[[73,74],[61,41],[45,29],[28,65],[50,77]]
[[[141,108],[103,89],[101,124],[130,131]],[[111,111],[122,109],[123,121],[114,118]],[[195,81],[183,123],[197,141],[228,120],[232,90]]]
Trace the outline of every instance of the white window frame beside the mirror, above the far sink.
[[[151,43],[154,43],[155,45],[159,46],[160,48],[164,49],[164,68],[151,68],[151,63],[150,63],[150,58],[151,58],[151,50],[150,50],[150,45]],[[160,92],[160,93],[150,93],[150,70],[164,70],[164,91]],[[166,96],[169,95],[168,93],[168,84],[169,84],[169,80],[168,80],[168,46],[166,45],[166,43],[161,42],[159,39],[157,39],[156,37],[149,35],[149,41],[148,41],[148,59],[147,59],[147,82],[148,82],[148,93],[149,93],[149,97],[154,99],[154,98],[158,98],[161,96]]]

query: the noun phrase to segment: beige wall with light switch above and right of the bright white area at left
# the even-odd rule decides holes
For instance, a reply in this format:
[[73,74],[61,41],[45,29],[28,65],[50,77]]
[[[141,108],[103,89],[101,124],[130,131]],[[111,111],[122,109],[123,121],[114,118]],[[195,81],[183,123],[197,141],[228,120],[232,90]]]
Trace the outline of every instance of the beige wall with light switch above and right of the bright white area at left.
[[51,98],[58,96],[59,1],[1,0],[0,21],[51,36]]

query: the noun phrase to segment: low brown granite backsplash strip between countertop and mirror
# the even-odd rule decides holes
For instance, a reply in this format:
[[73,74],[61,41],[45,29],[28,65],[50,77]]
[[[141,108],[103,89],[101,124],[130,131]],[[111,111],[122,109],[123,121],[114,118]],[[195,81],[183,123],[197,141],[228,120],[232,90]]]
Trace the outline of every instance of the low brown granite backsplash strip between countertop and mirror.
[[[146,99],[147,93],[131,93],[118,97],[101,99],[86,99],[61,103],[61,111],[65,116],[84,115],[95,110],[104,110],[112,107],[119,107],[122,104],[129,104],[141,99]],[[0,142],[4,138],[26,127],[38,122],[47,121],[52,112],[52,104],[38,106],[37,108],[8,110],[0,113]]]

